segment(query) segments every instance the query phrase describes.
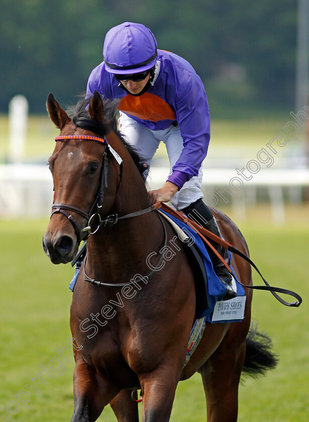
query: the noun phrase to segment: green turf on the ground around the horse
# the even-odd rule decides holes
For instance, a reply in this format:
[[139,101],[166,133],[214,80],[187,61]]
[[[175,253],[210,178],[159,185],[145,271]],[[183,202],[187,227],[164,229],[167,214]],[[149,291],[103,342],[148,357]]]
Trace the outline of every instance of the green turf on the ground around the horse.
[[[253,318],[273,340],[280,363],[260,380],[248,379],[240,387],[239,420],[263,422],[305,422],[309,406],[307,262],[309,222],[307,208],[290,210],[285,226],[274,228],[267,214],[249,216],[239,224],[249,244],[251,258],[268,282],[297,291],[304,299],[299,308],[287,308],[267,292],[254,293]],[[289,217],[289,215],[287,216]],[[15,395],[23,393],[32,379],[71,338],[69,306],[72,276],[69,265],[55,266],[42,250],[42,235],[48,220],[0,221],[1,265],[1,342],[0,342],[0,420],[6,420],[6,405],[14,411]],[[238,222],[239,223],[239,222]],[[254,283],[261,281],[254,276]],[[38,381],[41,396],[31,391],[29,408],[20,405],[12,421],[44,422],[70,420],[73,410],[73,358],[64,364],[65,372],[45,374],[46,384]],[[62,369],[64,369],[62,367]],[[30,390],[29,390],[30,391]],[[141,405],[140,405],[141,407]],[[108,406],[98,420],[116,420]],[[205,400],[200,376],[178,385],[171,420],[205,422]]]

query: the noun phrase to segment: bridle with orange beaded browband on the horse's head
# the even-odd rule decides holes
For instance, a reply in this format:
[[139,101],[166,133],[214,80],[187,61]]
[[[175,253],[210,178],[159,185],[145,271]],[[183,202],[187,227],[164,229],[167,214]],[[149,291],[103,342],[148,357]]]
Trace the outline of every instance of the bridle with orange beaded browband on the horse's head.
[[[159,204],[151,205],[148,208],[141,209],[139,211],[127,214],[122,217],[118,217],[118,214],[112,214],[110,216],[107,216],[105,219],[101,219],[99,210],[103,204],[104,188],[108,187],[107,176],[108,176],[108,167],[109,167],[109,156],[112,155],[120,167],[119,182],[116,188],[116,193],[120,187],[122,177],[123,177],[123,167],[124,167],[123,160],[120,157],[120,155],[111,147],[107,139],[99,138],[96,136],[88,136],[88,135],[68,135],[68,136],[57,136],[55,138],[55,141],[56,142],[66,141],[66,140],[71,140],[71,139],[84,140],[84,141],[96,141],[101,144],[104,144],[105,146],[104,153],[103,153],[102,167],[101,167],[101,175],[100,175],[100,179],[101,179],[100,187],[98,189],[94,202],[90,206],[89,211],[86,212],[85,210],[79,208],[78,206],[70,205],[67,203],[54,203],[52,205],[52,213],[51,213],[50,218],[56,213],[63,214],[69,220],[69,222],[73,225],[78,243],[88,239],[88,237],[96,233],[101,226],[107,226],[107,225],[113,226],[114,224],[118,222],[118,220],[141,216],[143,214],[150,213],[151,211],[159,207]],[[77,221],[74,219],[74,217],[71,214],[68,213],[68,211],[76,213],[82,218],[86,219],[87,225],[81,229]],[[95,228],[91,229],[91,227],[94,224],[95,224]]]

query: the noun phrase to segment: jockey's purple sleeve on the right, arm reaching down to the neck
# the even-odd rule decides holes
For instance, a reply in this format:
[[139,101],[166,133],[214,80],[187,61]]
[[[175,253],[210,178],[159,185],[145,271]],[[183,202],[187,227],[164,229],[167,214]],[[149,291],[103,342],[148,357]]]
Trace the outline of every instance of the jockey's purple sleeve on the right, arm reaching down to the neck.
[[[174,106],[183,149],[167,179],[179,188],[191,177],[197,176],[210,141],[210,114],[204,86],[195,73],[183,74],[187,77],[186,84],[184,88],[178,88]],[[177,86],[183,87],[180,79]]]

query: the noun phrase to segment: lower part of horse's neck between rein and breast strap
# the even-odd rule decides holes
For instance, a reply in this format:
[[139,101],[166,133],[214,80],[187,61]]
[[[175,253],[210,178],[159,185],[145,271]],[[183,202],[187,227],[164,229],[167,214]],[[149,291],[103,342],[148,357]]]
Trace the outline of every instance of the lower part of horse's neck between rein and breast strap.
[[102,227],[87,241],[88,275],[112,283],[128,282],[135,274],[147,276],[147,257],[155,252],[156,263],[163,244],[164,232],[156,212]]

